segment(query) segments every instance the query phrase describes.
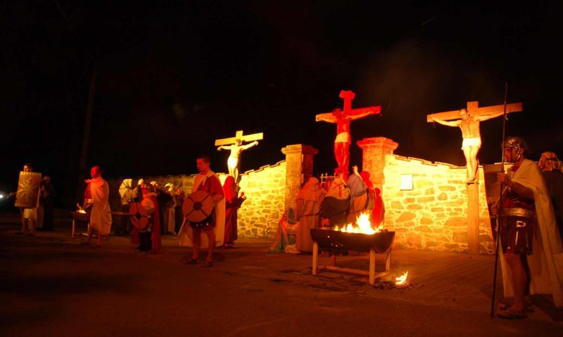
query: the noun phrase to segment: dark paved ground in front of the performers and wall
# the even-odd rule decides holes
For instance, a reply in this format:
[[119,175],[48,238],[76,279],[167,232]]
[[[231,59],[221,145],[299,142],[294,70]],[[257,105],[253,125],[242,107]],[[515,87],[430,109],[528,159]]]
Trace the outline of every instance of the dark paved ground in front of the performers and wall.
[[[393,251],[391,274],[408,270],[411,286],[380,289],[312,276],[310,256],[265,253],[268,242],[219,249],[205,269],[180,262],[174,237],[142,255],[127,237],[78,246],[68,220],[15,235],[17,220],[0,215],[0,336],[562,336],[548,298],[523,321],[489,317],[492,256]],[[338,263],[367,269],[368,258]]]

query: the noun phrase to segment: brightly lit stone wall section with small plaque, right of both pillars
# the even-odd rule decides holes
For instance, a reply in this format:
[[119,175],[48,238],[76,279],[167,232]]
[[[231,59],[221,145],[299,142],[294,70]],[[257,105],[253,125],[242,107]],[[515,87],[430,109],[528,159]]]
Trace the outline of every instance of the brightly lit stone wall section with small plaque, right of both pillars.
[[[422,159],[384,155],[385,225],[405,249],[467,252],[466,169]],[[412,190],[400,190],[412,174]],[[479,251],[494,253],[483,169],[479,168]]]

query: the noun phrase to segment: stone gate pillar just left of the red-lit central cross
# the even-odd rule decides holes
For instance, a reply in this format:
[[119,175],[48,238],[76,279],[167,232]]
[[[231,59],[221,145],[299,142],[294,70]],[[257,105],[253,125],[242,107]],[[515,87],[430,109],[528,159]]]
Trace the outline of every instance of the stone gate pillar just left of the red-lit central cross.
[[286,155],[286,201],[285,209],[295,207],[295,198],[301,188],[312,176],[313,157],[319,152],[310,145],[287,145],[281,149]]

